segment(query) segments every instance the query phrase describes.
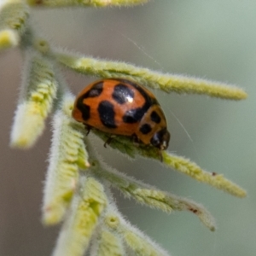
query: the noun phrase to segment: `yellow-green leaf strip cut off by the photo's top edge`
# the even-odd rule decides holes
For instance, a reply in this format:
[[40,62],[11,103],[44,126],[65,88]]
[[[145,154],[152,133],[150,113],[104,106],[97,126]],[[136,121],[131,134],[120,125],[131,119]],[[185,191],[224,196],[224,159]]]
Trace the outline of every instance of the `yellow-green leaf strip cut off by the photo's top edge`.
[[147,3],[148,0],[26,0],[27,4],[42,7],[67,7],[67,6],[84,6],[84,7],[108,7],[108,6],[130,6]]

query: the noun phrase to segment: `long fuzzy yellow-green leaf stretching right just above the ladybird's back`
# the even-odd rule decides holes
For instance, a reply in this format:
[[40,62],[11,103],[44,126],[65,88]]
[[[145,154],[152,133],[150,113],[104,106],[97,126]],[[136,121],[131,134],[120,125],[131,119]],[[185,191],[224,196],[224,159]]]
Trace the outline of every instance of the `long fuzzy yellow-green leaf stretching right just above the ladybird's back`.
[[56,54],[56,57],[61,64],[79,73],[97,75],[102,78],[131,79],[138,84],[160,89],[167,93],[173,91],[176,93],[205,94],[230,100],[242,100],[247,97],[247,93],[236,86],[205,79],[158,73],[125,62],[96,60],[63,53]]

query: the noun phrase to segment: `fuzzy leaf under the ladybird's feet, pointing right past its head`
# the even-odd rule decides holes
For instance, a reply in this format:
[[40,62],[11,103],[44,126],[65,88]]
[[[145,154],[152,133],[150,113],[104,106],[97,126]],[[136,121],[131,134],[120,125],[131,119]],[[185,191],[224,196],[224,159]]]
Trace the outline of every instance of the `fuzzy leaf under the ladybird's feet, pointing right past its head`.
[[[95,130],[93,132],[105,142],[109,137],[108,134],[101,131]],[[108,146],[118,149],[121,153],[128,154],[132,158],[137,154],[140,154],[143,157],[160,160],[160,154],[157,148],[145,146],[143,144],[140,146],[135,146],[129,137],[113,137]],[[216,172],[206,172],[194,162],[181,156],[170,154],[167,151],[162,151],[161,154],[163,158],[162,162],[167,167],[171,167],[178,172],[183,172],[184,174],[193,177],[202,183],[207,183],[217,189],[222,189],[224,192],[230,193],[231,195],[236,195],[237,197],[244,197],[247,195],[244,189],[241,189],[238,185],[232,183],[223,175],[217,174]]]

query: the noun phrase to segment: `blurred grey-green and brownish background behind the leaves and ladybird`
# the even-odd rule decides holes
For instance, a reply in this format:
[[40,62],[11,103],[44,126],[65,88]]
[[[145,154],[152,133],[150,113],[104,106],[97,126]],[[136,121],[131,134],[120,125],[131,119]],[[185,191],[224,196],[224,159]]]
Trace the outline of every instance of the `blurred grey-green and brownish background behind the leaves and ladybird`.
[[[117,157],[102,144],[97,148],[119,171],[201,202],[212,212],[218,224],[213,233],[189,212],[167,215],[125,200],[114,191],[120,211],[172,255],[256,255],[256,2],[161,0],[130,9],[34,9],[32,24],[64,49],[164,73],[237,84],[247,91],[247,100],[241,102],[155,91],[172,133],[168,150],[239,183],[247,189],[245,199],[156,162]],[[22,67],[17,49],[0,54],[3,256],[49,255],[59,230],[40,223],[50,125],[34,148],[9,148]],[[91,80],[64,69],[63,73],[73,93]]]

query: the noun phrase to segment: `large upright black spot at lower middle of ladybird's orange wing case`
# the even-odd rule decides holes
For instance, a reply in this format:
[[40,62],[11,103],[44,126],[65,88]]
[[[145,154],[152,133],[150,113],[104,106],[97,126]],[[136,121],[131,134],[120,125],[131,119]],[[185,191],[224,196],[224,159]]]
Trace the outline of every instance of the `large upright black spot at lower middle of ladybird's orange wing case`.
[[114,122],[113,104],[111,102],[101,102],[98,106],[98,113],[103,125],[108,128],[117,127]]

